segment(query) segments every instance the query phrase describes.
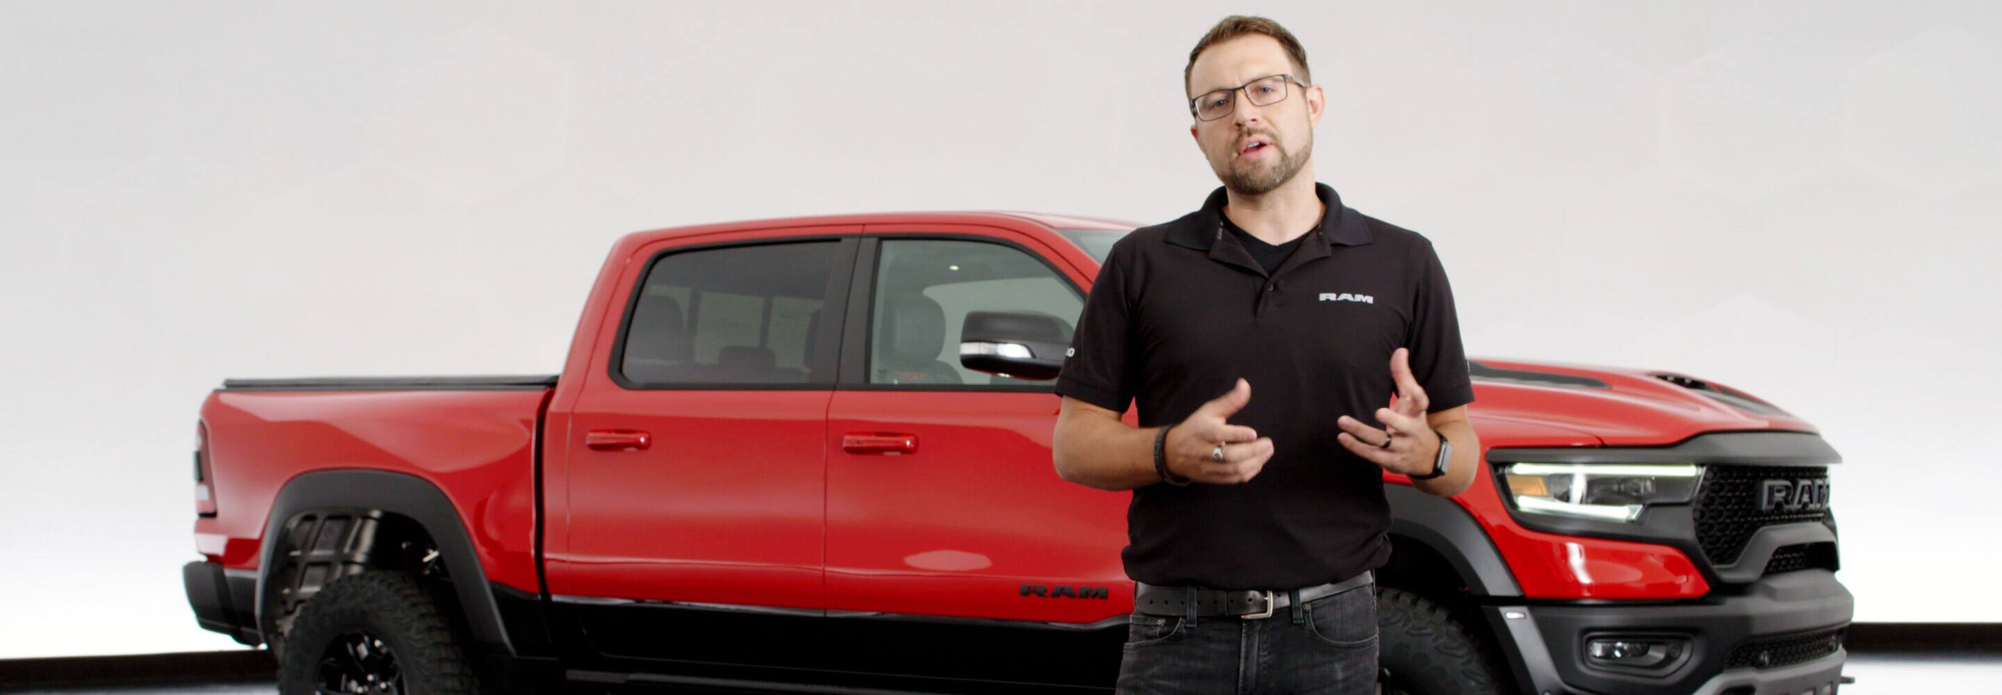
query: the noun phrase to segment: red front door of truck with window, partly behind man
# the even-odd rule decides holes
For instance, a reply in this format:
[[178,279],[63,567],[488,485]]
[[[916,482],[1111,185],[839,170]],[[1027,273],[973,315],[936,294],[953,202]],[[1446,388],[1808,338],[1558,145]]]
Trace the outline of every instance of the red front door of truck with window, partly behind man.
[[[1133,601],[1119,563],[1131,495],[1057,477],[1055,381],[963,367],[969,310],[1039,310],[1073,326],[1083,290],[1029,234],[865,226],[827,421],[829,629],[853,635],[833,643],[869,645],[853,655],[865,669],[873,655],[1013,681],[1077,669],[1073,657],[1117,667]],[[1115,633],[1109,649],[1077,643],[1101,633]],[[1037,657],[1003,659],[1003,637]]]

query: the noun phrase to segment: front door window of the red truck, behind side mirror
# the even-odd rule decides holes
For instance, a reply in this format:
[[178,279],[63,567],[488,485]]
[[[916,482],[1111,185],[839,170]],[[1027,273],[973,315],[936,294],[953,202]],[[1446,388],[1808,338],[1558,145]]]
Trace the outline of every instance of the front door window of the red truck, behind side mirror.
[[1063,322],[1065,340],[1083,294],[1039,258],[1007,244],[885,238],[869,328],[869,383],[1049,389],[1051,381],[997,377],[959,365],[959,328],[971,310],[1039,310]]

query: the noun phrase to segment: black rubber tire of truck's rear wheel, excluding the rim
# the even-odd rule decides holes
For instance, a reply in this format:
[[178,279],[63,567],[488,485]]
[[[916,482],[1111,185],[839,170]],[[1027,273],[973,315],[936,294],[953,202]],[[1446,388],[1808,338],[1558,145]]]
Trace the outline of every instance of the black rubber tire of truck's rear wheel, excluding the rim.
[[[410,573],[364,571],[340,577],[298,607],[278,659],[278,693],[314,695],[322,687],[322,659],[342,635],[382,641],[400,693],[480,695],[476,667],[466,659],[466,637],[452,627],[440,597]],[[374,641],[368,639],[368,641]],[[380,651],[370,653],[380,659]],[[380,665],[382,661],[370,661]],[[388,689],[368,689],[384,693]]]

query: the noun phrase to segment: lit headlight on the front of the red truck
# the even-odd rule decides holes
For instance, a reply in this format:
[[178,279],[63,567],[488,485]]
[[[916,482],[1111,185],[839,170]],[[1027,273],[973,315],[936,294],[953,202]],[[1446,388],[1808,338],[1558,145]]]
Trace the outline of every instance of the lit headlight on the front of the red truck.
[[1516,509],[1536,515],[1634,523],[1648,505],[1696,497],[1704,467],[1628,463],[1512,463],[1501,469]]

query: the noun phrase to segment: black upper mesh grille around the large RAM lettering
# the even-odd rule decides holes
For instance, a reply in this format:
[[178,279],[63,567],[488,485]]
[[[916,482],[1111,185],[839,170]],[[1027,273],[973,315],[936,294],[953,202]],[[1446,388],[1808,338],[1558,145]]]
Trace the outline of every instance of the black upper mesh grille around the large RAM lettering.
[[1716,565],[1732,565],[1746,541],[1762,527],[1794,521],[1822,521],[1828,511],[1760,511],[1764,481],[1826,479],[1828,467],[1740,467],[1710,465],[1696,493],[1696,543]]

